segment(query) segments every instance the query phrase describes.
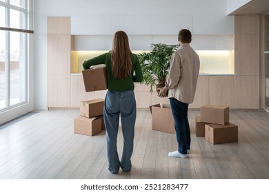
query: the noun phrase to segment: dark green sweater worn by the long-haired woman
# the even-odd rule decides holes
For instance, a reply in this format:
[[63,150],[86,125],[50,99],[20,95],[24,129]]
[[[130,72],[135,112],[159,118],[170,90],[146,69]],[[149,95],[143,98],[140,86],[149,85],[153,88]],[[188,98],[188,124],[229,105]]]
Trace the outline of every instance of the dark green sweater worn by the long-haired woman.
[[88,61],[84,61],[83,68],[84,70],[86,70],[90,68],[91,65],[105,64],[106,65],[106,77],[108,80],[108,90],[118,91],[118,92],[123,92],[126,90],[134,90],[135,88],[134,82],[143,81],[143,74],[141,71],[141,66],[140,66],[137,55],[132,54],[131,59],[132,59],[132,72],[130,74],[130,77],[127,77],[122,80],[116,79],[112,74],[112,62],[111,62],[110,52],[101,54],[98,57],[89,59]]

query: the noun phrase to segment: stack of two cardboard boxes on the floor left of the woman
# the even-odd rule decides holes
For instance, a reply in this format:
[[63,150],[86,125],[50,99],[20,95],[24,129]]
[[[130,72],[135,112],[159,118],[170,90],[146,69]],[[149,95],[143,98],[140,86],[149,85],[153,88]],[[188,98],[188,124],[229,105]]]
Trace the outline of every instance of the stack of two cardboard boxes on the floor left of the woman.
[[74,118],[74,132],[93,136],[105,130],[103,104],[104,99],[81,101],[80,115]]

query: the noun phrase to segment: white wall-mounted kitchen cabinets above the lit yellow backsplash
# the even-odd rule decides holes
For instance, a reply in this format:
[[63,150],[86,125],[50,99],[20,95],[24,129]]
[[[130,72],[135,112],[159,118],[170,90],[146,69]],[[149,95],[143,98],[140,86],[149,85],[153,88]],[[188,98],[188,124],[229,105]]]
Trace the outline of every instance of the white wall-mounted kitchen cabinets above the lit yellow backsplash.
[[192,32],[195,50],[234,50],[233,16],[126,15],[70,17],[75,50],[110,50],[114,32],[128,34],[132,50],[150,50],[151,43],[177,44],[179,30]]

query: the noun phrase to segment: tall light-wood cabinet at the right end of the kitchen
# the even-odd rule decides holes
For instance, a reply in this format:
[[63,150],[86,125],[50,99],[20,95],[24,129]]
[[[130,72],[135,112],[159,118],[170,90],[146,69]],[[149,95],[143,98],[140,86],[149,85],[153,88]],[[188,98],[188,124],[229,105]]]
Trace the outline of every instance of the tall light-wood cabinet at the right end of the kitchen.
[[259,109],[259,15],[235,16],[236,109]]

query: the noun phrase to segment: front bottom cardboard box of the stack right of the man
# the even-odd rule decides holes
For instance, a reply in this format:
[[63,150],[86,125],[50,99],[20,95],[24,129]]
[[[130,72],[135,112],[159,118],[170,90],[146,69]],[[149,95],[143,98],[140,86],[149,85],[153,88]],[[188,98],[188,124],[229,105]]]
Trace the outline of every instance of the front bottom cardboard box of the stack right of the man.
[[226,125],[206,124],[206,141],[213,144],[238,141],[238,126],[232,123]]

